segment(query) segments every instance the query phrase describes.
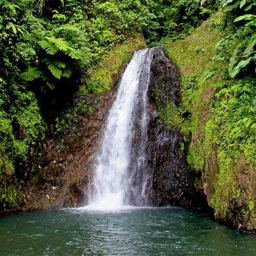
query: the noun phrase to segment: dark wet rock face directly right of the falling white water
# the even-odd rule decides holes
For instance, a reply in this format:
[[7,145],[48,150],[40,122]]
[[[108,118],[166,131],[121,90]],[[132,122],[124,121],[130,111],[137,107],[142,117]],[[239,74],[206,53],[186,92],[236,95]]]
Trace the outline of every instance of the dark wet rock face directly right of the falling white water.
[[[196,196],[193,180],[186,162],[187,145],[177,127],[168,129],[158,122],[158,106],[180,101],[175,66],[165,57],[162,48],[155,51],[148,88],[148,169],[154,205],[191,206]],[[158,96],[158,97],[157,97]],[[181,144],[185,148],[181,150]]]

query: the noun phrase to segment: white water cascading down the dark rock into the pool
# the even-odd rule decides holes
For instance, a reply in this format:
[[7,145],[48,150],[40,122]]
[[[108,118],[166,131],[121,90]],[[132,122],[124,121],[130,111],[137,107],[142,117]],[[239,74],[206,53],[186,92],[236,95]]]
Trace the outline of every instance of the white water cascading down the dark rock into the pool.
[[[90,208],[113,209],[129,203],[128,190],[132,190],[131,166],[134,121],[140,105],[141,146],[137,152],[137,165],[144,165],[146,140],[147,87],[153,49],[137,51],[123,73],[116,100],[105,123],[101,147],[94,169],[94,192]],[[142,175],[143,177],[143,175]],[[142,181],[143,182],[143,181]],[[145,185],[142,184],[143,194]],[[143,195],[140,195],[143,197]]]

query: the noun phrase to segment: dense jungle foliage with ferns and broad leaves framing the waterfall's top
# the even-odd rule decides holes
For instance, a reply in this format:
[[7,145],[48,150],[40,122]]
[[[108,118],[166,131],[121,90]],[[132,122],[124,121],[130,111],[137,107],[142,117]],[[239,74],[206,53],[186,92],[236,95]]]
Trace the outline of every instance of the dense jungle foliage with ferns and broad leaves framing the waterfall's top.
[[[227,126],[224,133],[236,143],[251,136],[254,7],[245,0],[0,0],[0,208],[22,199],[22,186],[37,172],[29,161],[34,147],[50,124],[57,127],[73,93],[79,87],[99,91],[89,77],[116,44],[135,33],[150,47],[163,45],[185,38],[217,13],[212,26],[223,38],[215,58],[225,73],[218,97],[226,102],[220,111],[228,108],[225,120],[235,119],[234,131]],[[77,108],[90,109],[87,103]]]

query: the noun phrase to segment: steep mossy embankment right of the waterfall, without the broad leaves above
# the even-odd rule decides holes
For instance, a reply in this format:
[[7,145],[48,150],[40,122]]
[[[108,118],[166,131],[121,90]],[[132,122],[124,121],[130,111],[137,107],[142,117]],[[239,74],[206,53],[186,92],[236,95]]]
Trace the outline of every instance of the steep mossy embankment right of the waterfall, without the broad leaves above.
[[182,104],[169,103],[160,115],[170,127],[191,135],[187,160],[199,175],[195,186],[206,195],[216,219],[253,231],[255,79],[225,75],[228,63],[215,59],[220,39],[216,28],[205,22],[193,35],[166,45],[167,56],[180,69]]

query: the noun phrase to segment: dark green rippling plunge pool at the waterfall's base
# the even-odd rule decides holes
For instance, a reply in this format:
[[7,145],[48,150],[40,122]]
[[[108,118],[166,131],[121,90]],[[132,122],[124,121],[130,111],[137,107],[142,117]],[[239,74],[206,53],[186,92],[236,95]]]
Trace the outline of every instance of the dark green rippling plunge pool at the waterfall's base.
[[86,207],[0,218],[0,255],[255,255],[255,234],[178,207]]

